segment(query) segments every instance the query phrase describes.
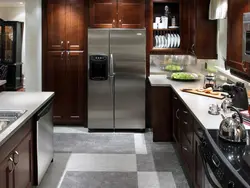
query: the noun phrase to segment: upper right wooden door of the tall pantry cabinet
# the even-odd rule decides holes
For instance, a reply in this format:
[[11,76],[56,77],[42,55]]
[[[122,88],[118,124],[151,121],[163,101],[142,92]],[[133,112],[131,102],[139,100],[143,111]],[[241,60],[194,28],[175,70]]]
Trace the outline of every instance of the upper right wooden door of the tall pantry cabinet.
[[66,45],[68,50],[83,50],[85,36],[84,2],[72,0],[66,4]]

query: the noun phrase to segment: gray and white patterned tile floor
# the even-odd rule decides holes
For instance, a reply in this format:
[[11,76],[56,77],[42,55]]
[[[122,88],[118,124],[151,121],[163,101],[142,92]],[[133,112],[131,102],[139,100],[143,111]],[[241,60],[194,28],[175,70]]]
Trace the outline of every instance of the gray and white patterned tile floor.
[[150,132],[55,127],[54,162],[38,188],[189,188],[173,143]]

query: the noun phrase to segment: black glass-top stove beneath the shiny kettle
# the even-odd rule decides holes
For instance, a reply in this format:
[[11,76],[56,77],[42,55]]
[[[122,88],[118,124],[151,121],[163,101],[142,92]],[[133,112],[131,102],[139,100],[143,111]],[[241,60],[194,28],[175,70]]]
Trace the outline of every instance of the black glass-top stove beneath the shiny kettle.
[[199,154],[205,172],[202,187],[250,187],[249,153],[246,144],[233,144],[219,137],[218,130],[198,131]]

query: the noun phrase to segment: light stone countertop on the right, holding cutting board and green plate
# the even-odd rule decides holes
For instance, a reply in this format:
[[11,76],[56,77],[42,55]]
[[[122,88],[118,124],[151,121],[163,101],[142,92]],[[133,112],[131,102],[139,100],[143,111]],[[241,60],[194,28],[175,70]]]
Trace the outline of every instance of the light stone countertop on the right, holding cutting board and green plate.
[[[208,114],[208,108],[210,104],[219,104],[220,106],[223,100],[180,91],[183,88],[202,88],[203,79],[196,82],[179,82],[169,80],[165,75],[151,75],[149,81],[152,86],[172,87],[204,128],[219,129],[222,117],[220,115]],[[250,129],[250,126],[246,125],[245,127]]]

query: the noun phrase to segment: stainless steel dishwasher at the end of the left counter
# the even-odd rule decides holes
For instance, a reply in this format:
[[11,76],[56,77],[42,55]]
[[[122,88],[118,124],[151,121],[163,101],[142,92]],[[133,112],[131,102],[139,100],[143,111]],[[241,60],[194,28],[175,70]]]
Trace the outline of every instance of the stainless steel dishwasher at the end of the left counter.
[[54,157],[52,107],[51,100],[36,115],[36,185],[40,184]]

